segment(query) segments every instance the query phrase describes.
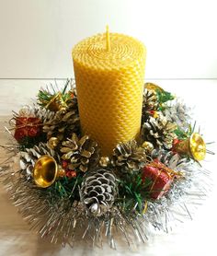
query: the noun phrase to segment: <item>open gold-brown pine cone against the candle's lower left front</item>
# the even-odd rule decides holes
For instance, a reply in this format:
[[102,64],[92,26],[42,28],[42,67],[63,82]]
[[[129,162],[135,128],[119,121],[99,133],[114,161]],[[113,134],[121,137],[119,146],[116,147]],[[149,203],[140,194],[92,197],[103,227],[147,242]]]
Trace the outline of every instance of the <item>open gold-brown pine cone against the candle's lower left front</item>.
[[87,135],[79,140],[77,135],[73,134],[72,139],[63,141],[61,152],[63,160],[71,161],[70,169],[80,169],[83,172],[96,166],[99,159],[97,142]]

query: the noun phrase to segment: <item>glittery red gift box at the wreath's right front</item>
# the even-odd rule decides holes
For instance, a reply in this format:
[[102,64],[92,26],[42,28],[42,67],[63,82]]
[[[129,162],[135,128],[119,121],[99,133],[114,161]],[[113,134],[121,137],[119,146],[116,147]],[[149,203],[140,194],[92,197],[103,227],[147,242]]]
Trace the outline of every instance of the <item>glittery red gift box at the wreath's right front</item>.
[[157,159],[143,168],[143,182],[151,181],[148,190],[152,199],[161,198],[169,190],[173,177],[166,166]]

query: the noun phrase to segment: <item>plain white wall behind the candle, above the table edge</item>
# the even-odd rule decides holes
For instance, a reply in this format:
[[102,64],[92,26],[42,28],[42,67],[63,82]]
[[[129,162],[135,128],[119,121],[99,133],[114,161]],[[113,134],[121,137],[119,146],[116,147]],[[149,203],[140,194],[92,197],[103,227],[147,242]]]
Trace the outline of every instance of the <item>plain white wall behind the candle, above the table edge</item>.
[[217,77],[216,0],[0,0],[0,77],[73,74],[74,44],[110,31],[147,47],[147,78]]

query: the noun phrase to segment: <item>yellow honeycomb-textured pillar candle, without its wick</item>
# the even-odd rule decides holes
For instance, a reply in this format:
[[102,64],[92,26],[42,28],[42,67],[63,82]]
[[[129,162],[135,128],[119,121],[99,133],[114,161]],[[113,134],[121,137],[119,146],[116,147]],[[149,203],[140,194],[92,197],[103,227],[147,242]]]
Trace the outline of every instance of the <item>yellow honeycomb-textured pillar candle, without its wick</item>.
[[73,49],[74,76],[83,134],[97,140],[102,155],[140,134],[145,48],[129,36],[97,34]]

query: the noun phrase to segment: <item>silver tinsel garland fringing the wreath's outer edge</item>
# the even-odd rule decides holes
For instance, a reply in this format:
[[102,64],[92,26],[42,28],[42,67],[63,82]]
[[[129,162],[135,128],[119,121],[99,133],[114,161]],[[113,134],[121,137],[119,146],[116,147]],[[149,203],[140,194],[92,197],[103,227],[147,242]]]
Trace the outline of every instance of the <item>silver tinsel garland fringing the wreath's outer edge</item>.
[[[189,116],[188,109],[184,106],[177,101],[175,105],[168,107],[164,114],[167,120],[177,122],[179,127],[186,129]],[[40,114],[43,115],[40,109],[36,112],[39,117]],[[93,244],[97,245],[102,245],[106,239],[114,249],[120,237],[125,239],[129,246],[145,242],[153,233],[168,232],[173,223],[192,218],[194,208],[201,204],[210,190],[208,170],[193,160],[174,155],[166,162],[166,166],[180,171],[182,177],[175,179],[170,190],[159,200],[143,202],[143,214],[135,213],[136,204],[128,214],[114,204],[103,215],[89,215],[86,205],[82,202],[75,200],[72,203],[70,198],[51,194],[50,190],[40,189],[32,180],[26,179],[22,170],[17,167],[17,147],[7,149],[11,157],[0,168],[0,180],[6,185],[10,198],[41,238],[48,237],[51,242],[63,245],[74,246],[76,240],[85,238],[91,239]],[[166,157],[166,154],[172,153],[163,149],[154,149],[153,152],[153,156],[160,160]]]

